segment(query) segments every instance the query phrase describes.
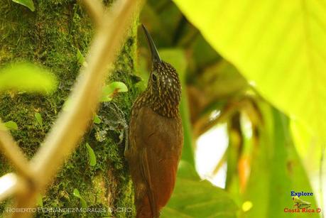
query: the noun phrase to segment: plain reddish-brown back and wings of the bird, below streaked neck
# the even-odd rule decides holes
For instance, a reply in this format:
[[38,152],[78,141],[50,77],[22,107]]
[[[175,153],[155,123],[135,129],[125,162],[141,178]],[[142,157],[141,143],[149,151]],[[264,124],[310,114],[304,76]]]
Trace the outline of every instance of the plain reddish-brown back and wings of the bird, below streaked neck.
[[126,157],[136,186],[136,205],[148,197],[152,211],[159,211],[170,199],[175,184],[183,146],[180,119],[168,119],[143,107],[129,128]]

